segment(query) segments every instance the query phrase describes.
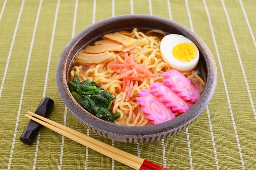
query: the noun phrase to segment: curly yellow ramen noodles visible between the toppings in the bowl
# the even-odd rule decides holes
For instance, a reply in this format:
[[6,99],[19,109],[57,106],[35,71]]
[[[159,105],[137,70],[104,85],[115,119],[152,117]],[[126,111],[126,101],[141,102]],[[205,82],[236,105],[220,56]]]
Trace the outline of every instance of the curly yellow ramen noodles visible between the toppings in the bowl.
[[[134,86],[131,89],[131,97],[128,102],[125,102],[126,93],[122,92],[122,78],[120,74],[117,74],[113,68],[107,67],[109,64],[113,64],[114,59],[118,59],[119,63],[124,63],[125,53],[110,51],[114,54],[114,59],[104,64],[90,65],[87,69],[83,69],[83,65],[80,65],[74,60],[73,68],[70,71],[70,79],[73,79],[74,74],[77,74],[81,80],[89,79],[101,86],[102,89],[111,92],[113,96],[116,96],[115,101],[111,107],[112,113],[119,112],[121,114],[119,119],[114,120],[114,123],[118,125],[128,126],[146,126],[151,125],[150,121],[145,118],[146,114],[141,112],[141,106],[137,104],[136,97],[139,96],[138,91],[148,89],[149,85],[154,82],[163,82],[163,76],[165,71],[173,71],[171,66],[164,62],[160,53],[160,38],[154,36],[147,36],[151,33],[166,34],[160,30],[150,30],[147,33],[141,32],[138,28],[134,28],[131,32],[119,31],[120,34],[137,39],[134,43],[134,49],[128,51],[128,54],[133,54],[135,61],[146,67],[149,71],[159,75],[154,78],[139,78],[134,80]],[[200,92],[204,91],[204,80],[198,75],[199,68],[195,71],[182,73],[185,77],[191,79],[191,81],[197,86]],[[179,113],[174,113],[176,116]]]

